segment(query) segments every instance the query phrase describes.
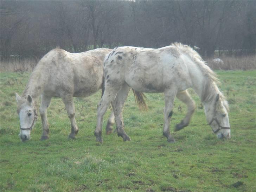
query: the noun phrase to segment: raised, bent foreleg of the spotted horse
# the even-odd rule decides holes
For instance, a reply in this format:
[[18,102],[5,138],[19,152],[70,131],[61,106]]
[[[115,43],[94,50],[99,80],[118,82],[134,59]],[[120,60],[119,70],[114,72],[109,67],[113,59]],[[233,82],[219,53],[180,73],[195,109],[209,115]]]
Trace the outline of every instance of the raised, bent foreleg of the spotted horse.
[[190,119],[196,109],[195,102],[192,100],[191,96],[188,94],[187,90],[179,92],[177,97],[180,101],[184,102],[187,105],[187,114],[185,118],[175,126],[174,131],[178,131],[188,126]]

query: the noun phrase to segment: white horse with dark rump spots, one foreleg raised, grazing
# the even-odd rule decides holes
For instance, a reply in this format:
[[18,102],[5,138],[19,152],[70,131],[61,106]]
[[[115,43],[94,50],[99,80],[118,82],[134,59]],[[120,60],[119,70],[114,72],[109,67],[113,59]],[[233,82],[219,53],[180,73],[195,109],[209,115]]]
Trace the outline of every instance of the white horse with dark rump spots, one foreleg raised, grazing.
[[215,73],[199,54],[187,45],[174,43],[160,49],[118,47],[104,60],[105,90],[97,108],[96,141],[102,142],[102,118],[112,103],[118,136],[130,137],[123,129],[123,105],[130,88],[147,93],[164,92],[164,129],[168,142],[175,142],[169,132],[175,96],[187,105],[185,118],[174,131],[188,126],[195,103],[187,89],[193,88],[204,105],[206,120],[218,138],[230,138],[228,102],[219,91]]

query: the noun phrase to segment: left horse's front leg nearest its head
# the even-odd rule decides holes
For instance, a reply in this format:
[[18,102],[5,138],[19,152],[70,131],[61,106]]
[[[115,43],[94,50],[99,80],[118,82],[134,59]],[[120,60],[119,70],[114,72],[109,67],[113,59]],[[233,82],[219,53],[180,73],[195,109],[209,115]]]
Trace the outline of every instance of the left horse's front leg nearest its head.
[[47,121],[47,108],[49,107],[51,102],[51,97],[46,95],[41,95],[41,105],[39,108],[39,113],[41,116],[42,124],[43,124],[43,134],[41,136],[41,140],[49,139],[49,125]]

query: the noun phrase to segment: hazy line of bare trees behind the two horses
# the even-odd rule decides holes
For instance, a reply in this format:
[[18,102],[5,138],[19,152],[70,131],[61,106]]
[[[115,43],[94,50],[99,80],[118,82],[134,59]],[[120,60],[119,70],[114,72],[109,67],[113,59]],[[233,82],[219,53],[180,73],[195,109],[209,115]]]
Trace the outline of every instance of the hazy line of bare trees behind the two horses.
[[0,2],[0,55],[42,57],[59,46],[159,48],[181,42],[203,57],[255,54],[256,3],[250,0],[89,0]]

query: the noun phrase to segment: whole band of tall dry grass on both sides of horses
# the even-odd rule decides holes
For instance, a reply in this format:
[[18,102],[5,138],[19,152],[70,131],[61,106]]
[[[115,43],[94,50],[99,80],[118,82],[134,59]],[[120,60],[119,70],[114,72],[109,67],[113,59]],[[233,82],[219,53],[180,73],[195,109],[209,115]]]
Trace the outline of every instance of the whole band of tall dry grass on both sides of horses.
[[[207,65],[213,70],[254,70],[256,69],[256,55],[243,57],[220,57],[223,64],[212,62],[212,58],[206,59]],[[0,72],[31,72],[38,60],[33,58],[11,58],[7,61],[0,60]]]

